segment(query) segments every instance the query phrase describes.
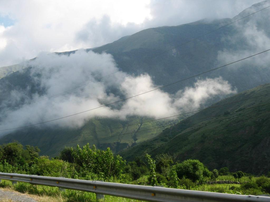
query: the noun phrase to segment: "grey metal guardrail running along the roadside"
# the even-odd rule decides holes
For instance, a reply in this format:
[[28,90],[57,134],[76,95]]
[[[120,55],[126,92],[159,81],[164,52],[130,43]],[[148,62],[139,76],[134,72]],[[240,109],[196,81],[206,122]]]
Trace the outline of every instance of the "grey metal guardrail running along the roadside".
[[60,187],[64,189],[72,189],[79,191],[93,192],[96,194],[105,194],[124,198],[133,198],[143,201],[158,202],[202,202],[202,201],[268,201],[270,197],[253,196],[253,195],[237,195],[214,193],[207,191],[194,191],[183,189],[171,189],[163,187],[151,187],[133,184],[120,184],[111,182],[99,182],[90,180],[68,179],[61,177],[45,177],[37,175],[23,175],[15,173],[1,173],[0,179],[18,182],[28,182],[36,185],[45,185]]

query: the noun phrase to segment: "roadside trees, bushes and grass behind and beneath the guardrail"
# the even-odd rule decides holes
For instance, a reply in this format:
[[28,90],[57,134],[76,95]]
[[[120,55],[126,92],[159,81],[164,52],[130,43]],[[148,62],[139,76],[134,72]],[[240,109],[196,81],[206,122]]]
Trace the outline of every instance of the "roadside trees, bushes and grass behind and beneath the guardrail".
[[[49,159],[39,156],[39,149],[18,142],[0,146],[0,172],[24,173],[31,175],[66,177],[85,180],[104,180],[106,182],[164,186],[177,189],[214,191],[234,194],[270,193],[270,179],[266,176],[252,177],[237,171],[230,173],[227,168],[212,172],[199,160],[178,161],[169,154],[159,154],[154,158],[146,154],[144,159],[136,158],[126,163],[119,155],[113,155],[110,148],[99,150],[89,144],[82,148],[66,147],[59,157]],[[227,175],[220,176],[225,171]],[[235,179],[233,179],[233,177]],[[61,201],[94,201],[95,194],[67,190],[61,193],[57,187],[33,186],[27,183],[3,181],[1,187],[59,198]],[[106,196],[107,201],[116,197]],[[49,201],[48,199],[46,199]],[[118,200],[118,199],[117,199]],[[120,199],[119,201],[134,201]]]

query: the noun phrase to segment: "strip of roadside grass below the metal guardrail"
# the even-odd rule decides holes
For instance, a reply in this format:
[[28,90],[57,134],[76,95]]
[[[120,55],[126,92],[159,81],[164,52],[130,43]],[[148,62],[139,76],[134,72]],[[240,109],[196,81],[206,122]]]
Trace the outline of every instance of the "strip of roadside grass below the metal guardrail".
[[[30,194],[31,196],[38,196],[37,200],[40,202],[96,202],[96,194],[84,191],[65,190],[65,192],[59,191],[58,187],[48,187],[42,185],[32,185],[29,183],[17,182],[12,185],[11,181],[2,180],[0,187],[18,191],[21,193]],[[36,198],[36,197],[35,197]],[[7,200],[8,201],[8,200]],[[115,196],[105,195],[106,202],[140,202],[139,200],[133,200],[128,198],[121,198]],[[9,202],[9,201],[8,201]]]

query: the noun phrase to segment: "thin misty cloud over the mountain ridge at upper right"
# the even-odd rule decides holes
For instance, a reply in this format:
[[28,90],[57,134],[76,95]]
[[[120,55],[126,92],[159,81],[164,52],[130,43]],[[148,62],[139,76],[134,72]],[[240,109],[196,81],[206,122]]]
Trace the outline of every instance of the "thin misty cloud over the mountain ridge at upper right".
[[[254,8],[250,12],[269,6],[270,1],[266,1],[259,8]],[[245,14],[244,14],[245,15]],[[230,36],[224,36],[222,42],[227,44],[227,49],[218,52],[217,61],[221,64],[227,64],[231,61],[237,61],[241,58],[254,55],[256,53],[268,50],[270,47],[270,28],[265,22],[270,18],[269,12],[256,13],[252,18],[245,22],[238,22],[232,25],[234,32]],[[262,53],[252,58],[231,65],[230,69],[241,67],[253,67],[254,69],[267,68],[270,66],[270,53]]]

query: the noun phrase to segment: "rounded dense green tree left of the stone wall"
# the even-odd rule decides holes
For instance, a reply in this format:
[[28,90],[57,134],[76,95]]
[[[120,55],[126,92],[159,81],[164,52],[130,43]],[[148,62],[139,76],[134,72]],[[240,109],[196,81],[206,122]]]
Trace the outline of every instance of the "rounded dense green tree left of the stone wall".
[[188,178],[193,182],[203,181],[204,165],[199,160],[188,159],[175,166],[177,176],[180,179]]

